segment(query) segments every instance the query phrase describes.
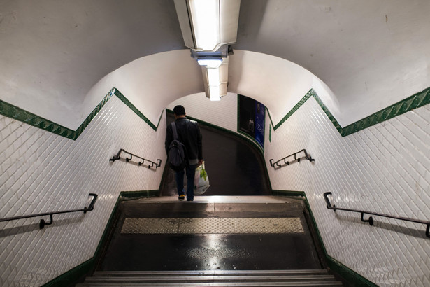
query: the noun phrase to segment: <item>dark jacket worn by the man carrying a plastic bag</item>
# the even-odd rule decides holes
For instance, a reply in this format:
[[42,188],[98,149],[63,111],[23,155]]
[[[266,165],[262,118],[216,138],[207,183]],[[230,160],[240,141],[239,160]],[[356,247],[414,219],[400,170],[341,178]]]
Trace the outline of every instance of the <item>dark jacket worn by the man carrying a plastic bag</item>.
[[[203,151],[201,144],[201,132],[199,123],[187,118],[177,118],[175,120],[176,130],[178,130],[178,139],[187,148],[187,158],[190,165],[195,165],[199,160],[203,159]],[[166,141],[164,146],[166,153],[169,150],[169,145],[173,141],[172,125],[167,125]]]

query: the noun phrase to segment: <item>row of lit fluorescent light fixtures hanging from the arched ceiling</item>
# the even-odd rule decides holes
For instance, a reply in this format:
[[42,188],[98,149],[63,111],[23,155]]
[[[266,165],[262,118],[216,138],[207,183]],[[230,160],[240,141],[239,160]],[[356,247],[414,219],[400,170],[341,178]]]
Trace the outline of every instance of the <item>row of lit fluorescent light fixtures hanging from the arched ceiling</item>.
[[236,43],[241,0],[174,0],[185,45],[203,72],[206,97],[227,95],[229,45]]

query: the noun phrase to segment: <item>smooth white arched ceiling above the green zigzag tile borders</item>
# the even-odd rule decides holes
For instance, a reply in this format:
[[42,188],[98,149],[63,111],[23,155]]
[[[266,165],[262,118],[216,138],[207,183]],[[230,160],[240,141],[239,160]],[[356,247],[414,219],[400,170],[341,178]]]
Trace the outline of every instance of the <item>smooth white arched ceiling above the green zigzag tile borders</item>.
[[[352,123],[430,86],[429,10],[427,0],[242,0],[229,92],[279,119],[304,96],[302,73],[315,75],[324,104]],[[203,91],[184,49],[171,0],[0,0],[0,99],[76,128],[115,85],[156,121]]]

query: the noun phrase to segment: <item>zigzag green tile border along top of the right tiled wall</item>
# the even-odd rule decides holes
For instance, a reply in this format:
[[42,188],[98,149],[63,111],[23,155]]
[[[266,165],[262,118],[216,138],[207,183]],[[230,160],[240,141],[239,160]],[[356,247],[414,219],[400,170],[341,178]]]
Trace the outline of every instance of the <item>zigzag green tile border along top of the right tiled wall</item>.
[[327,109],[327,106],[324,105],[324,103],[321,101],[320,97],[318,97],[317,93],[310,89],[310,91],[297,103],[294,108],[285,115],[282,120],[277,125],[273,125],[273,120],[271,118],[270,113],[267,111],[268,116],[271,120],[271,124],[273,126],[273,131],[277,130],[278,127],[280,127],[285,121],[292,116],[293,113],[295,113],[310,97],[314,97],[317,103],[320,105],[322,111],[327,115],[331,123],[333,123],[334,127],[336,127],[336,130],[338,130],[339,134],[342,135],[342,137],[346,137],[350,134],[354,134],[355,132],[359,132],[361,130],[366,129],[367,127],[371,127],[372,125],[376,125],[378,123],[382,123],[385,120],[389,120],[391,118],[394,118],[396,116],[400,116],[403,113],[407,113],[408,111],[412,111],[413,109],[417,109],[420,106],[425,106],[427,104],[430,104],[430,87],[428,87],[425,90],[422,90],[421,92],[417,92],[416,94],[413,94],[412,96],[403,99],[396,104],[392,104],[391,106],[388,106],[385,109],[382,109],[380,111],[377,111],[376,113],[373,113],[371,116],[368,116],[366,118],[363,118],[361,120],[358,120],[355,123],[352,123],[350,125],[347,125],[346,127],[341,127],[339,125],[338,121],[334,116],[330,113],[329,109]]

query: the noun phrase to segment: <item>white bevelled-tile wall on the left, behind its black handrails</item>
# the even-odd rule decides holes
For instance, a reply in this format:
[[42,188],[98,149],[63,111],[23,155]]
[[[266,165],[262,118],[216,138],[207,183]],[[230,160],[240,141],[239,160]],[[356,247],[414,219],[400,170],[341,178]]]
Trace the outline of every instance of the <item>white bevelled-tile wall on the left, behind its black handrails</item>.
[[[0,223],[0,286],[40,286],[92,258],[119,193],[159,188],[165,130],[165,115],[156,132],[117,97],[76,141],[0,116],[0,218],[82,209],[99,195],[94,211],[54,215],[43,230],[41,218]],[[120,148],[162,167],[110,162]]]

